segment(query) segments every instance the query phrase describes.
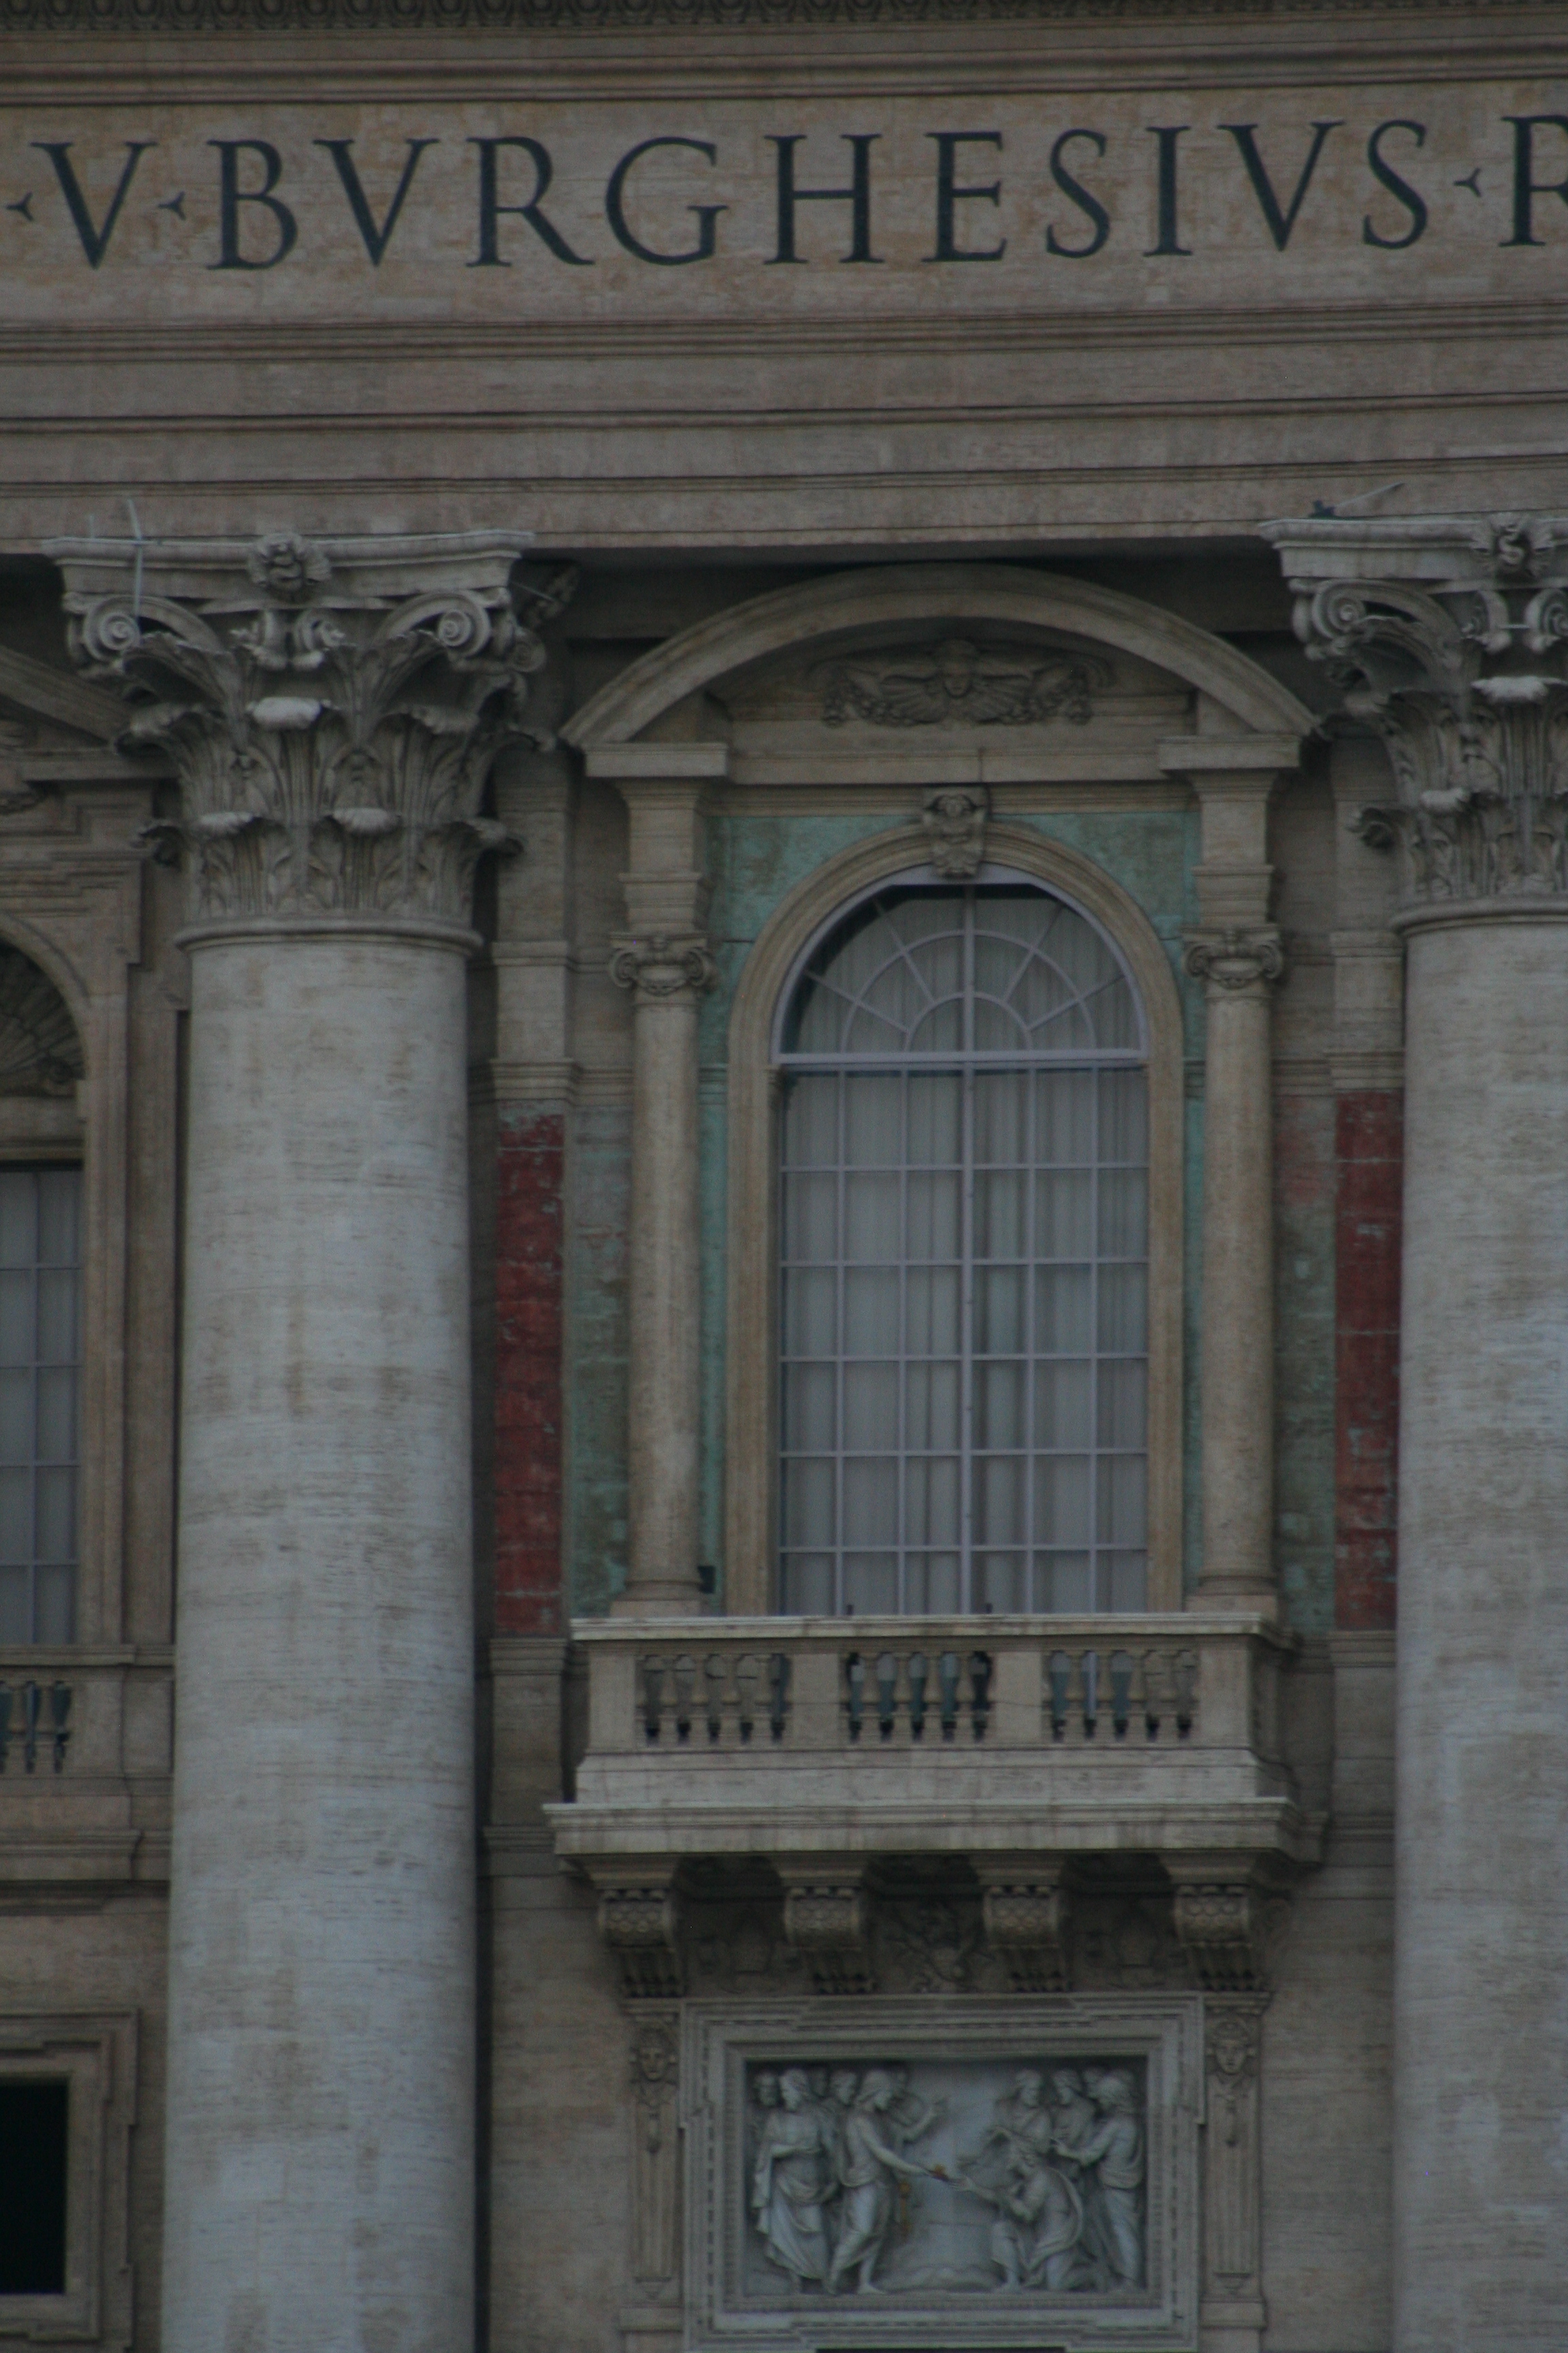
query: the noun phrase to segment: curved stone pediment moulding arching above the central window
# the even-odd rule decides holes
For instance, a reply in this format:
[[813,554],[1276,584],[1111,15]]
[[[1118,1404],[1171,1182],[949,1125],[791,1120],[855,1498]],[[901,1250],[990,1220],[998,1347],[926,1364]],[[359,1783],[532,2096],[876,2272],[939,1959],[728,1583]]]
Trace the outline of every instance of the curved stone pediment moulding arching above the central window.
[[1114,588],[1023,565],[889,565],[778,588],[679,631],[602,687],[562,734],[578,751],[607,751],[769,659],[827,659],[856,640],[940,645],[966,631],[1128,656],[1204,696],[1227,734],[1300,741],[1316,725],[1288,687],[1222,638]]

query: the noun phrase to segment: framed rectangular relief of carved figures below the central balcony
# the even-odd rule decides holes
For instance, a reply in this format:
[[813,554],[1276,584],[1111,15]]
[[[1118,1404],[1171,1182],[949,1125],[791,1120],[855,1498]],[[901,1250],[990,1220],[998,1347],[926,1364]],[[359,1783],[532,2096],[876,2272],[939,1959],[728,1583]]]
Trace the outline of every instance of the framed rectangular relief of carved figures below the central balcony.
[[686,2344],[1197,2334],[1194,1995],[689,2002]]

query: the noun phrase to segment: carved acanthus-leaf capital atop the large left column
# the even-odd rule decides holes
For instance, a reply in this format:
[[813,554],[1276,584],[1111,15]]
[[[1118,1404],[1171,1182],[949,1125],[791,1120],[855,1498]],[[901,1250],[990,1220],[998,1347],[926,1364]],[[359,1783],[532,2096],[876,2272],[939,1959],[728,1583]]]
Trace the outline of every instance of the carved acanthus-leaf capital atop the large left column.
[[[197,922],[468,922],[510,847],[480,814],[524,734],[541,638],[512,605],[524,532],[418,539],[52,541],[71,652],[129,701],[125,751],[162,751]],[[545,612],[559,595],[534,598]]]

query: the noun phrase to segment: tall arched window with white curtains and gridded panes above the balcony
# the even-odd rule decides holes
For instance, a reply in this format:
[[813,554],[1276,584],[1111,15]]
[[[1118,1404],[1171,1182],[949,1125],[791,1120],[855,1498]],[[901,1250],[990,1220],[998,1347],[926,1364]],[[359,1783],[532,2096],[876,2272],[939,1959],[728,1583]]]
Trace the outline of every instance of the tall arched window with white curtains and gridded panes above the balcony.
[[780,1607],[1143,1609],[1147,1040],[1067,899],[884,885],[778,1026]]

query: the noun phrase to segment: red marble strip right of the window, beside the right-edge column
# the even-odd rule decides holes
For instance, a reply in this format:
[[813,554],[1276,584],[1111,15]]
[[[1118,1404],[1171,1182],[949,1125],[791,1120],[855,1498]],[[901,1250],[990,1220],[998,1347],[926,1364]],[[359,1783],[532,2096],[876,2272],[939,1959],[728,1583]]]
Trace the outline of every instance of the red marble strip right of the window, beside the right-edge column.
[[1335,1626],[1394,1624],[1403,1096],[1335,1120]]

